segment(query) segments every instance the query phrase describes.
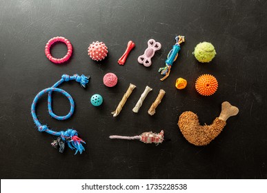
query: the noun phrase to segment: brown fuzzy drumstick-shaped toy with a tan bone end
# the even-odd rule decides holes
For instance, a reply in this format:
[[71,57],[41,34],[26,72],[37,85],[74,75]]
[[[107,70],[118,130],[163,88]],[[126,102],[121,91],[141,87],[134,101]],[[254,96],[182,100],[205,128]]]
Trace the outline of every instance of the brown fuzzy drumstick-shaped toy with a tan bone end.
[[237,115],[238,112],[237,107],[225,101],[221,103],[221,114],[211,125],[200,125],[197,114],[190,111],[183,112],[180,115],[178,125],[189,143],[197,146],[208,145],[223,130],[226,120],[230,116]]

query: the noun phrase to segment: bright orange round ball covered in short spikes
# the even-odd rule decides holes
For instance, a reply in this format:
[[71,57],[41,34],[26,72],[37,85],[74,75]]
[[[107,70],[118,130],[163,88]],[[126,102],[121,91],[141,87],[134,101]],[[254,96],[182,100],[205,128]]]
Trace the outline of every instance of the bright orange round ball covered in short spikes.
[[197,92],[203,96],[214,94],[218,88],[218,81],[210,74],[202,74],[195,83]]

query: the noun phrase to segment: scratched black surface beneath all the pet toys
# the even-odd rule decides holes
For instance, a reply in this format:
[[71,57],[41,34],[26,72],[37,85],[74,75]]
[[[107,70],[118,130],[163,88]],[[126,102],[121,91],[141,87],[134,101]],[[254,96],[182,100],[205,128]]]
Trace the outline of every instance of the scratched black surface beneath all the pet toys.
[[[0,1],[0,153],[1,179],[266,179],[266,10],[267,1]],[[170,77],[161,82],[164,66],[177,34],[186,37]],[[70,40],[74,53],[68,63],[55,65],[44,54],[46,42],[56,36]],[[162,48],[144,68],[137,57],[148,39]],[[87,48],[103,41],[108,58],[92,61]],[[126,64],[121,57],[129,40],[136,47]],[[192,56],[195,45],[210,41],[217,56],[208,64]],[[66,53],[59,43],[55,57]],[[119,77],[115,88],[106,88],[103,75]],[[37,131],[30,115],[34,96],[58,81],[61,74],[90,74],[88,88],[63,83],[75,100],[75,114],[67,121],[52,119],[46,97],[38,103],[41,123],[54,130],[75,128],[86,141],[86,152],[74,156],[51,148],[53,136]],[[209,97],[194,88],[199,75],[217,77],[219,89]],[[175,88],[178,77],[187,79],[185,90]],[[121,114],[115,110],[129,83],[134,90]],[[132,108],[146,85],[148,94],[138,114]],[[166,96],[155,116],[148,108],[159,89]],[[95,108],[90,96],[99,93],[103,105]],[[57,114],[68,113],[68,100],[53,94]],[[239,107],[223,132],[206,147],[195,147],[177,127],[181,112],[191,110],[210,124],[221,102]],[[164,129],[170,142],[158,146],[139,141],[110,140],[110,134],[136,135]]]

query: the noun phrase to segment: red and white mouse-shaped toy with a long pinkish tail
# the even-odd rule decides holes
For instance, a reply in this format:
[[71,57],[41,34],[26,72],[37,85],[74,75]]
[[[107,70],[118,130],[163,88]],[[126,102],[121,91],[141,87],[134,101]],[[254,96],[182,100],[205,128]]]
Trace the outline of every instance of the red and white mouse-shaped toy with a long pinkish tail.
[[133,140],[139,139],[139,141],[144,143],[162,143],[164,141],[164,130],[161,130],[160,133],[153,133],[153,132],[144,132],[140,135],[136,136],[119,136],[119,135],[111,135],[110,139],[126,139],[126,140]]

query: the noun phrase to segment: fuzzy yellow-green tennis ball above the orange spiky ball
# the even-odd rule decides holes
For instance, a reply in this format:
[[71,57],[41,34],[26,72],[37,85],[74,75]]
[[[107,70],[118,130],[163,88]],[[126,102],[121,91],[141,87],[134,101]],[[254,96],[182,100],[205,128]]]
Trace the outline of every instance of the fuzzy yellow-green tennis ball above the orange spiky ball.
[[197,44],[195,51],[192,52],[195,55],[195,58],[201,62],[210,62],[215,57],[216,51],[214,46],[211,43],[206,41]]

